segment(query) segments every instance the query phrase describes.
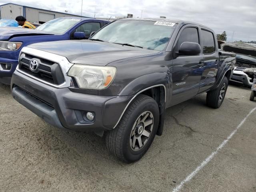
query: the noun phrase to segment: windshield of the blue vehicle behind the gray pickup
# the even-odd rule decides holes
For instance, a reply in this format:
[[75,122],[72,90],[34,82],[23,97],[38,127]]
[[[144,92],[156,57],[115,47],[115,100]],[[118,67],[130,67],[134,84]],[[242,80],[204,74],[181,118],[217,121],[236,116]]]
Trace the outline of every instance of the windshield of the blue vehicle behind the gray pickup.
[[45,32],[63,34],[80,21],[80,19],[74,18],[57,18],[38,26],[36,29]]

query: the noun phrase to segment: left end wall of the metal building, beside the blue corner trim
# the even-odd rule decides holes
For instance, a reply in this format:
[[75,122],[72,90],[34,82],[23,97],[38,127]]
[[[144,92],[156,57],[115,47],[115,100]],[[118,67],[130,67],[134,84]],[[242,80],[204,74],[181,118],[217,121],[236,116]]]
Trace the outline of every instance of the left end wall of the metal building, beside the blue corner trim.
[[23,6],[8,4],[0,8],[1,19],[15,19],[17,16],[23,15]]

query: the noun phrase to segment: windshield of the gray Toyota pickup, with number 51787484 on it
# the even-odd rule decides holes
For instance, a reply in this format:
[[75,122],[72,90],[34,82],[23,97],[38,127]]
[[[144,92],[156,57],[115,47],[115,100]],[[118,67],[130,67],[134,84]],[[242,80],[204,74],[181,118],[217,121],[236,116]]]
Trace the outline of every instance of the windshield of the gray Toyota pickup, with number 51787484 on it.
[[174,29],[174,23],[170,22],[118,20],[102,28],[91,39],[162,51]]

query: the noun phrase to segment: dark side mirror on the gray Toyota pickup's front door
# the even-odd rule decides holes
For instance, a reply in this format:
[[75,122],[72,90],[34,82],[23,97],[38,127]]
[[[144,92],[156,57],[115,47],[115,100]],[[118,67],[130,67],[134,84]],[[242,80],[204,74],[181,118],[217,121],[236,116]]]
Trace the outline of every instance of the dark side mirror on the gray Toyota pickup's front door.
[[179,55],[191,55],[195,56],[200,54],[201,46],[198,43],[183,42],[179,48]]

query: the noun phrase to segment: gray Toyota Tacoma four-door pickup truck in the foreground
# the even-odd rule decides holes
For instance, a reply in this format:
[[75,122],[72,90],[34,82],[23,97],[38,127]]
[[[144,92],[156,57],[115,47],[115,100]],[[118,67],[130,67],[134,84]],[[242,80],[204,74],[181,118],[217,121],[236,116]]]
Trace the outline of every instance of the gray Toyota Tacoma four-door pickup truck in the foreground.
[[182,20],[116,20],[89,40],[24,47],[14,99],[61,129],[93,131],[123,162],[161,135],[165,109],[207,92],[222,104],[236,62],[213,30]]

